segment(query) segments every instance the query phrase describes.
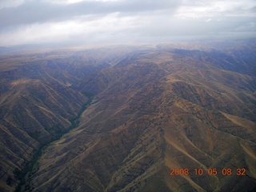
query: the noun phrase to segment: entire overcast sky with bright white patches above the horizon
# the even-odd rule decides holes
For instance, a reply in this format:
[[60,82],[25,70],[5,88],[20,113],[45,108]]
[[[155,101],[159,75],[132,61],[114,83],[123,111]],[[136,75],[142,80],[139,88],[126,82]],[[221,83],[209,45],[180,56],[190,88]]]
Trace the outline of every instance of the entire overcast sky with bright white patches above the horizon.
[[256,38],[256,0],[0,0],[0,46]]

